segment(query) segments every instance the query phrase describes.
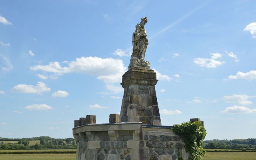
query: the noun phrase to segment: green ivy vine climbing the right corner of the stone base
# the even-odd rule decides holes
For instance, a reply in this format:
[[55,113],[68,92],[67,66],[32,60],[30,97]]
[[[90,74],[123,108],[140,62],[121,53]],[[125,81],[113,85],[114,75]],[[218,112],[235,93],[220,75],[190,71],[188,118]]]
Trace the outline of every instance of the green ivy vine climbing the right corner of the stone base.
[[202,126],[201,121],[174,125],[172,130],[185,142],[186,152],[190,153],[189,159],[202,160],[202,155],[206,152],[203,148],[203,140],[206,136],[206,130],[204,126]]

